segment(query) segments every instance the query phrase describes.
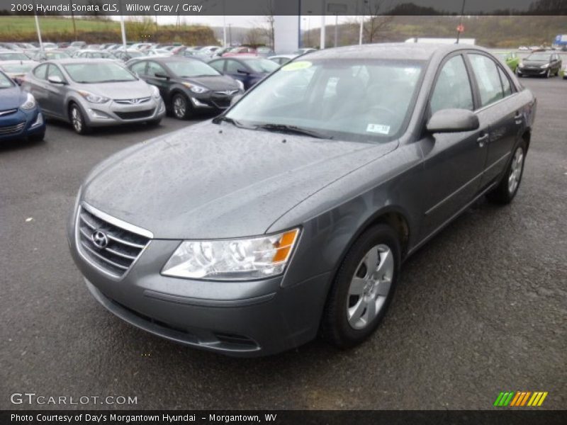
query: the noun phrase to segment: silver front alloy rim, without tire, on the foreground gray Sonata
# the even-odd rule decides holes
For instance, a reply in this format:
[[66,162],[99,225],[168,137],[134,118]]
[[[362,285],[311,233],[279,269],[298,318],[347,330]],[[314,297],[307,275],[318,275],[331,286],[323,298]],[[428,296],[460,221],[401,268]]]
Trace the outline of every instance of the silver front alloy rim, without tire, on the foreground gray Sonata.
[[347,320],[353,329],[364,329],[378,315],[390,292],[395,264],[385,244],[373,246],[357,266],[349,286]]

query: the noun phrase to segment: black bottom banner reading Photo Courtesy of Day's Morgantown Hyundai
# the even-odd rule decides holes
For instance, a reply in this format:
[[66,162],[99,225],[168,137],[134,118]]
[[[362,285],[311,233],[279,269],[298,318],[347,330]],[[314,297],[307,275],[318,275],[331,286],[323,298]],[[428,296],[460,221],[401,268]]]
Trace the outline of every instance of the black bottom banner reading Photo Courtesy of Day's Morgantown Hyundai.
[[563,425],[567,411],[509,410],[249,410],[249,411],[154,411],[154,410],[28,410],[0,412],[0,424],[471,424]]

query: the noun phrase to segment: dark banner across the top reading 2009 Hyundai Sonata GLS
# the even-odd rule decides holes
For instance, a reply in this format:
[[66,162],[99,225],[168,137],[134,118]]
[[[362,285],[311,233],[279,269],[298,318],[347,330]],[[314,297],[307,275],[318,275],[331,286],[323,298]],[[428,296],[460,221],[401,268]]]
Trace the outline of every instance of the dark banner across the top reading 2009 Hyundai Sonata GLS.
[[567,15],[567,0],[1,0],[0,15]]

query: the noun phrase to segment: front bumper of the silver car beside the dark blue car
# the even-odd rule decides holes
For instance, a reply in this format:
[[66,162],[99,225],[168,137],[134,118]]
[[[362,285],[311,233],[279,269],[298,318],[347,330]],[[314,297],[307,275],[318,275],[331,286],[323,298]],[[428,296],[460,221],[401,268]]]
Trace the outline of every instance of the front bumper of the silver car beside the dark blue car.
[[85,113],[85,120],[90,127],[159,120],[165,115],[162,98],[150,98],[145,103],[132,105],[116,101],[98,104],[81,100],[80,103]]

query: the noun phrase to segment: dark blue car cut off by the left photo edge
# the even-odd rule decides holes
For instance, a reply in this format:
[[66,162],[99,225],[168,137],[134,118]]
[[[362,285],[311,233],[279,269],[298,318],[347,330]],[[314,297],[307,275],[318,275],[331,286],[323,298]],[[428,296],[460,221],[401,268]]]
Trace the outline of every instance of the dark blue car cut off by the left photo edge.
[[45,120],[35,98],[0,71],[0,142],[43,140]]

